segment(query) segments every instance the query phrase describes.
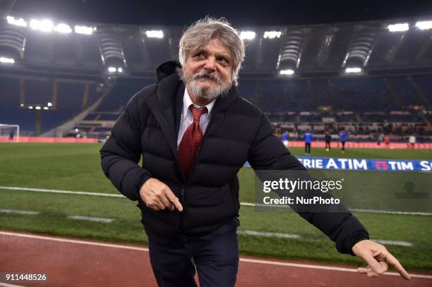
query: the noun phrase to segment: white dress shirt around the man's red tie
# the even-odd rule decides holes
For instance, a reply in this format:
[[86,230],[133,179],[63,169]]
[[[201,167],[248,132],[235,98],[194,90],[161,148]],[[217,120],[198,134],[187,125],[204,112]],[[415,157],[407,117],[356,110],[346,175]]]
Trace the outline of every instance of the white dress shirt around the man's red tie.
[[[193,104],[191,97],[188,94],[188,89],[184,89],[184,96],[183,96],[183,109],[181,109],[181,116],[180,116],[180,128],[179,128],[179,137],[177,138],[177,147],[179,147],[181,138],[183,138],[184,132],[188,128],[188,126],[191,126],[191,123],[193,123],[193,115],[191,112],[191,109],[189,109],[189,106]],[[208,123],[210,121],[210,114],[212,112],[213,106],[215,105],[215,100],[213,99],[212,102],[209,104],[206,104],[205,107],[207,107],[208,112],[203,113],[200,116],[200,128],[203,131],[203,136],[205,134],[205,130],[207,130]],[[202,108],[203,106],[198,106],[198,104],[193,104],[196,108]]]

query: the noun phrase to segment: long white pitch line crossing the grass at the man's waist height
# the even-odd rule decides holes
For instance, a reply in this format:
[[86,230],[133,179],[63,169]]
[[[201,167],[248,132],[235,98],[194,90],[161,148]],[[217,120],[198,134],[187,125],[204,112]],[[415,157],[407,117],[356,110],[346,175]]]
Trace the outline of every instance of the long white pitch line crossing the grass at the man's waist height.
[[[93,195],[93,196],[106,196],[106,197],[124,197],[124,195],[114,195],[111,193],[89,193],[86,191],[72,191],[72,190],[52,190],[45,188],[20,188],[16,186],[0,186],[0,190],[24,190],[24,191],[35,191],[40,193],[64,193],[68,195]],[[126,198],[126,197],[124,197]],[[261,203],[251,203],[251,202],[240,202],[241,206],[247,207],[274,207],[274,208],[289,208],[286,205],[283,206],[273,206]],[[352,212],[368,212],[368,213],[378,213],[378,214],[404,214],[404,215],[424,215],[432,216],[429,212],[395,212],[392,210],[379,210],[379,209],[349,209]]]

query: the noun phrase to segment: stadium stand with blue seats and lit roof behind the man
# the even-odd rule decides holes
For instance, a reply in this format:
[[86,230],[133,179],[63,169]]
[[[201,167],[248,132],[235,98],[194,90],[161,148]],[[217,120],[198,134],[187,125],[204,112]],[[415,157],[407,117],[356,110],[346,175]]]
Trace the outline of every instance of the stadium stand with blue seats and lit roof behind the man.
[[[432,29],[412,25],[396,35],[388,24],[280,27],[272,39],[256,28],[260,40],[247,42],[241,96],[263,109],[276,135],[287,130],[293,140],[307,129],[316,139],[346,129],[349,140],[390,133],[395,141],[411,134],[432,141]],[[15,61],[0,63],[1,123],[28,135],[59,130],[104,139],[133,94],[155,83],[154,69],[178,56],[180,27],[164,28],[162,37],[138,25],[87,28],[41,33],[0,20],[0,56]]]

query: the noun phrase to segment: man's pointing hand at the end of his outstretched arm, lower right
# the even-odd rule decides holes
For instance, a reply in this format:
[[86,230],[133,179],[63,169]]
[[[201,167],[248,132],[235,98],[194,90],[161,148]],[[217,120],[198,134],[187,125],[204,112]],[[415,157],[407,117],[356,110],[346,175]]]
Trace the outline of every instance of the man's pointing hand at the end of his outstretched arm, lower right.
[[357,268],[359,273],[364,273],[368,277],[376,277],[387,271],[388,264],[391,264],[404,279],[411,279],[404,267],[383,245],[371,240],[361,240],[354,244],[352,252],[368,264],[366,268]]

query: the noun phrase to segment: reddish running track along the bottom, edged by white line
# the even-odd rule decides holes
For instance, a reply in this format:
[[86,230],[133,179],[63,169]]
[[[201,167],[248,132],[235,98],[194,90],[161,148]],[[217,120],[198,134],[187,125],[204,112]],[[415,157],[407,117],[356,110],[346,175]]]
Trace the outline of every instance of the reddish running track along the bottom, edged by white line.
[[[0,250],[0,272],[49,279],[13,286],[157,286],[145,246],[0,231]],[[410,274],[411,281],[393,272],[369,279],[353,267],[242,256],[236,286],[432,286],[432,274]]]

